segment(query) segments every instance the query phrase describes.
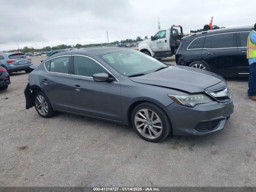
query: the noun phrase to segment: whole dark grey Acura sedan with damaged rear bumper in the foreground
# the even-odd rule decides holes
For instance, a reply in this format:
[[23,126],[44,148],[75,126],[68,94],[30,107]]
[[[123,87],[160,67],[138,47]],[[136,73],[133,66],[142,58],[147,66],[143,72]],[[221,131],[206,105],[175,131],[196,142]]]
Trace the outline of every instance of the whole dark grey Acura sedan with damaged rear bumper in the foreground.
[[224,128],[233,112],[226,81],[205,70],[169,66],[132,49],[90,48],[54,54],[29,74],[26,109],[68,112],[132,125],[159,142]]

